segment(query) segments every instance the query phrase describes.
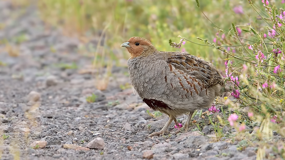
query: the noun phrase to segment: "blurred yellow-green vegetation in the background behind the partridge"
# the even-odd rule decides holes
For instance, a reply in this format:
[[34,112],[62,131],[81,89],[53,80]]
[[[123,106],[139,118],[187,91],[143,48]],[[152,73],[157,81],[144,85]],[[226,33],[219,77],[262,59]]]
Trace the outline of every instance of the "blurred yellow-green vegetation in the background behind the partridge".
[[[179,41],[177,36],[181,35],[196,43],[201,43],[196,37],[209,38],[212,42],[217,32],[214,24],[228,31],[231,22],[248,24],[250,20],[257,21],[257,13],[252,12],[247,3],[203,0],[199,8],[195,0],[41,0],[39,8],[43,20],[63,27],[66,34],[91,38],[105,33],[107,54],[112,54],[114,48],[119,48],[130,37],[141,36],[158,50],[181,51],[185,48],[189,54],[216,61],[221,52],[211,47],[188,44],[177,49],[169,46],[168,41]],[[257,6],[261,5],[258,1]],[[233,8],[237,6],[243,7],[244,14],[234,12]],[[126,50],[124,53],[124,58],[128,58]]]

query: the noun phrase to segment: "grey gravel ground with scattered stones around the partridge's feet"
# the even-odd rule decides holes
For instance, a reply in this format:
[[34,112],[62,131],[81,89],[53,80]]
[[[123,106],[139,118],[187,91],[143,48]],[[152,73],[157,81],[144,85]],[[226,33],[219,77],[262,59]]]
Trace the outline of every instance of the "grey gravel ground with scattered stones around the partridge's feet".
[[[0,132],[9,136],[0,140],[1,159],[256,159],[254,147],[239,151],[237,141],[214,141],[210,125],[202,128],[207,136],[191,132],[193,126],[177,136],[145,138],[168,116],[148,115],[153,111],[131,89],[119,87],[130,83],[127,67],[113,67],[107,89],[99,91],[92,57],[78,53],[80,41],[46,27],[35,7],[23,12],[0,1],[0,24],[0,40],[12,42],[0,43],[6,64],[0,65]],[[59,66],[73,63],[77,68]],[[94,103],[86,102],[91,93]]]

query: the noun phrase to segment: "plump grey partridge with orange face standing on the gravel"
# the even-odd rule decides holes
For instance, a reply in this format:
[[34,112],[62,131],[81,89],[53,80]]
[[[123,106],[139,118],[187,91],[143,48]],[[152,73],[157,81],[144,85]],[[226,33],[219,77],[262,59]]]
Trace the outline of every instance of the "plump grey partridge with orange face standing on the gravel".
[[141,37],[132,37],[121,47],[131,54],[128,70],[134,92],[150,108],[169,116],[160,132],[148,137],[164,135],[172,120],[178,124],[176,117],[189,113],[183,126],[187,131],[194,111],[209,108],[222,94],[223,77],[213,64],[201,58],[184,52],[157,51]]

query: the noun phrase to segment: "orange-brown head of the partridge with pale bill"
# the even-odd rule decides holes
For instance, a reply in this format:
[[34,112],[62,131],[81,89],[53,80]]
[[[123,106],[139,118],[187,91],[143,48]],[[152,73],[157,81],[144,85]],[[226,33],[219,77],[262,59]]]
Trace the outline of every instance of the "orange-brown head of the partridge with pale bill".
[[126,47],[131,58],[138,56],[148,56],[156,51],[155,47],[149,42],[149,40],[141,37],[132,37],[121,45],[121,47]]

